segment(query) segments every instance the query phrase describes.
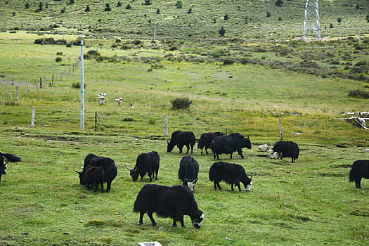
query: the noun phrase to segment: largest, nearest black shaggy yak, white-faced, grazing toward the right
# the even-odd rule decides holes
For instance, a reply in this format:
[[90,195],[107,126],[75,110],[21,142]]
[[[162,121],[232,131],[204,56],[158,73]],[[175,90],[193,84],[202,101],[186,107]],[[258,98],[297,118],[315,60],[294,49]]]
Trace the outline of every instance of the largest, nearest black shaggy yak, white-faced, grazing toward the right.
[[153,226],[156,222],[153,212],[160,217],[173,219],[173,227],[176,221],[181,222],[184,228],[183,215],[190,216],[193,226],[200,228],[204,214],[198,209],[192,191],[187,186],[158,186],[145,184],[141,188],[134,202],[134,212],[140,213],[140,226],[143,226],[143,214],[148,213]]

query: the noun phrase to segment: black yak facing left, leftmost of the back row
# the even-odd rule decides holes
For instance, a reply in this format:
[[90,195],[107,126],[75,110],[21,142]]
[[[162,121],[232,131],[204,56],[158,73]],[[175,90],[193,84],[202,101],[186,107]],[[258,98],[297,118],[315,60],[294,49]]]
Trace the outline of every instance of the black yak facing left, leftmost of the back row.
[[182,153],[183,146],[187,147],[187,152],[190,150],[191,146],[191,154],[193,153],[193,146],[195,145],[196,138],[195,134],[193,134],[192,131],[174,131],[174,133],[171,134],[170,142],[167,141],[167,152],[171,152],[173,150],[174,146],[177,145],[179,148],[179,153]]

